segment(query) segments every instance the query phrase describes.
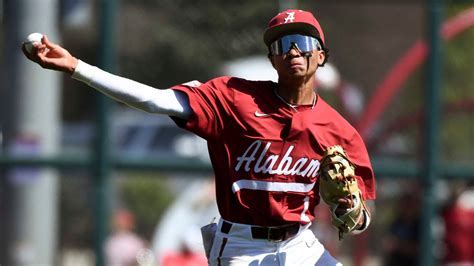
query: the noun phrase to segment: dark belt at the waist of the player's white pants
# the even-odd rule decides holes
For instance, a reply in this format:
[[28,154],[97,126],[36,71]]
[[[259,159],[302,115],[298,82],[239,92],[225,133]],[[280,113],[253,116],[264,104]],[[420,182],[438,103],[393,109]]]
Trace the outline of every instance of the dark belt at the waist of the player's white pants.
[[[228,234],[232,224],[227,221],[222,221],[221,232]],[[251,226],[252,237],[255,239],[265,239],[268,241],[284,241],[292,238],[300,230],[300,224],[294,223],[290,225],[262,227]]]

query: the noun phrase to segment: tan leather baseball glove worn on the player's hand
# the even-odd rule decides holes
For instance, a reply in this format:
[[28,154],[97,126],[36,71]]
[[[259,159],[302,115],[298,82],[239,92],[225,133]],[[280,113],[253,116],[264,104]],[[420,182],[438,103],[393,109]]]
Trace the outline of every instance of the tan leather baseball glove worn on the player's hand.
[[368,214],[354,170],[354,164],[339,145],[324,152],[319,166],[319,193],[329,205],[339,239],[358,229],[364,211]]

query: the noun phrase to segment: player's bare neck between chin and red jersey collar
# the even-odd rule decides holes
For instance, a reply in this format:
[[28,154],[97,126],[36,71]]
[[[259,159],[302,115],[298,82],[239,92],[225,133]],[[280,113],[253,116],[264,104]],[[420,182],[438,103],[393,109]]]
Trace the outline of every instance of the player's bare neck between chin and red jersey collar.
[[282,82],[280,80],[276,86],[276,93],[293,105],[312,104],[316,97],[315,85],[316,83],[312,80],[308,82]]

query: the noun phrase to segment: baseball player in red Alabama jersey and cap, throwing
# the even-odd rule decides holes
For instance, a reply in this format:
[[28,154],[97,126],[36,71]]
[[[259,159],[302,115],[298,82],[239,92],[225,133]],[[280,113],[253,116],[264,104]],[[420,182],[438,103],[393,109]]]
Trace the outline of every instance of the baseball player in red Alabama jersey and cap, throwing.
[[[283,11],[263,39],[277,83],[224,76],[159,90],[78,60],[46,36],[32,53],[23,52],[134,108],[168,115],[207,140],[221,215],[205,243],[210,265],[341,265],[309,226],[317,221],[321,177],[337,172],[352,178],[342,189],[356,193],[330,198],[334,225],[341,235],[368,227],[365,201],[375,199],[375,181],[365,145],[317,93],[315,72],[328,49],[313,14]],[[326,160],[330,154],[339,157]]]

